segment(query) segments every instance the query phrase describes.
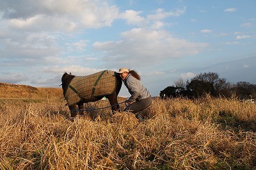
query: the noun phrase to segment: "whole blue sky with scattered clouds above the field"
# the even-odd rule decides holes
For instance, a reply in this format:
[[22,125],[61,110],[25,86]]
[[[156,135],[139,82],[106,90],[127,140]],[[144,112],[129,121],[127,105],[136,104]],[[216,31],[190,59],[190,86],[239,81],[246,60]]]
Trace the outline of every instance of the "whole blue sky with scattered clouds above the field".
[[[205,72],[256,84],[255,0],[0,4],[0,82],[55,88],[64,72],[126,67],[152,96]],[[124,85],[119,96],[129,97]]]

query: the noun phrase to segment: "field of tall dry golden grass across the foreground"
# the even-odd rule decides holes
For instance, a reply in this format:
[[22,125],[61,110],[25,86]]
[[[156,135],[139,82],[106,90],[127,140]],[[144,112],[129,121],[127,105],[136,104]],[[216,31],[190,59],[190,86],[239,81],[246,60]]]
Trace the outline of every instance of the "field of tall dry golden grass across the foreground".
[[64,104],[1,102],[0,169],[256,169],[255,104],[154,99],[143,123],[109,109],[71,122]]

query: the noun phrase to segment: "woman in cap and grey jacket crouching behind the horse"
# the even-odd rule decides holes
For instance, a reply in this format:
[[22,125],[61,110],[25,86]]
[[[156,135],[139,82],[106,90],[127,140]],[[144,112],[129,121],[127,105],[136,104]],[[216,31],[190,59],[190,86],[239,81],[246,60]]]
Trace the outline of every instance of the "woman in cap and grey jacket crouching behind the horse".
[[118,73],[131,94],[131,97],[125,101],[127,107],[124,111],[131,111],[139,121],[142,121],[143,118],[136,113],[150,106],[152,103],[150,92],[143,86],[140,75],[135,70],[120,68]]

